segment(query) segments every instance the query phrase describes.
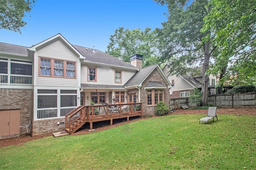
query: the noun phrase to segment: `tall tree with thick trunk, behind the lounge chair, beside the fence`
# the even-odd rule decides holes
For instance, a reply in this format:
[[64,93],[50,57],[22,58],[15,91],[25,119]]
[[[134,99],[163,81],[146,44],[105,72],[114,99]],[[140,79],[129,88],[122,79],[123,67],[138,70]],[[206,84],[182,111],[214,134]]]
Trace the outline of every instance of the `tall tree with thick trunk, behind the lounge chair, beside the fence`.
[[211,41],[202,41],[203,18],[209,14],[208,0],[155,0],[168,6],[168,20],[158,29],[162,60],[170,63],[172,75],[182,75],[202,64],[202,100],[207,105],[210,57],[216,49]]

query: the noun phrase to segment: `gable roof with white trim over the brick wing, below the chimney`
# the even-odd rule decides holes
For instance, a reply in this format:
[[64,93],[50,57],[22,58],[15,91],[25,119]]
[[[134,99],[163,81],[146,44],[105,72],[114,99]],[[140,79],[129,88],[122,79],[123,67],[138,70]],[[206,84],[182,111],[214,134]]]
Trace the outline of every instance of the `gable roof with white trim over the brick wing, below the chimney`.
[[128,80],[126,82],[126,84],[124,86],[126,86],[126,87],[142,86],[142,82],[144,82],[144,80],[151,74],[151,72],[154,69],[158,70],[158,72],[164,78],[165,82],[168,84],[168,88],[171,88],[169,80],[166,78],[166,76],[164,75],[164,73],[162,72],[162,70],[161,70],[161,68],[160,68],[160,66],[158,64],[154,64],[152,66],[148,66],[148,67],[142,68],[141,70],[136,72],[132,76],[132,78],[130,78],[130,80]]

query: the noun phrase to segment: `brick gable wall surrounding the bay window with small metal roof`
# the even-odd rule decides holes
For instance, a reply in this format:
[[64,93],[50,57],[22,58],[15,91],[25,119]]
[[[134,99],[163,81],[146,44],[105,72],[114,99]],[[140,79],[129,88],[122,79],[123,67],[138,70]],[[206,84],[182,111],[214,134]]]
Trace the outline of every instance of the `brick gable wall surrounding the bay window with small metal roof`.
[[144,80],[144,82],[142,83],[142,87],[140,88],[140,101],[142,102],[143,115],[155,114],[156,105],[148,106],[148,96],[147,96],[147,91],[145,90],[145,86],[148,84],[149,81],[162,82],[162,84],[166,86],[166,89],[163,90],[163,92],[164,92],[164,102],[167,103],[168,106],[169,106],[169,101],[171,97],[168,89],[168,85],[162,78],[161,74],[158,72],[157,69],[153,70],[153,72],[146,78],[146,80]]

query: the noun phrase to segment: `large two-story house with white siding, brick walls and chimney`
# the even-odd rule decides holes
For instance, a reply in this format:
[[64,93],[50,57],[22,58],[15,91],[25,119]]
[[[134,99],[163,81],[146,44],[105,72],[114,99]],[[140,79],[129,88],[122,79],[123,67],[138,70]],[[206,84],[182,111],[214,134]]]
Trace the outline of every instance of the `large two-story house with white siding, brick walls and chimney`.
[[65,116],[90,100],[142,103],[143,115],[153,115],[158,102],[169,103],[171,84],[158,64],[142,68],[142,55],[130,58],[71,45],[61,34],[32,47],[0,43],[0,138],[30,121],[33,135],[64,131]]

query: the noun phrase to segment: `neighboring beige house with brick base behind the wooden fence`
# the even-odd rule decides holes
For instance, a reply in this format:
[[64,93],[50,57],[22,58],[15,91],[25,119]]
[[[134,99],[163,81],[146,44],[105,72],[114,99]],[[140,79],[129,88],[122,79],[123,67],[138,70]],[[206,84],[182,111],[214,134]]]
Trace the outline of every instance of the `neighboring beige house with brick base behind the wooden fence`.
[[[192,76],[190,73],[176,76],[170,74],[169,65],[162,68],[164,74],[172,84],[171,98],[186,98],[194,94],[194,88],[202,89],[202,75]],[[210,75],[208,80],[208,94],[216,94],[216,76]]]

